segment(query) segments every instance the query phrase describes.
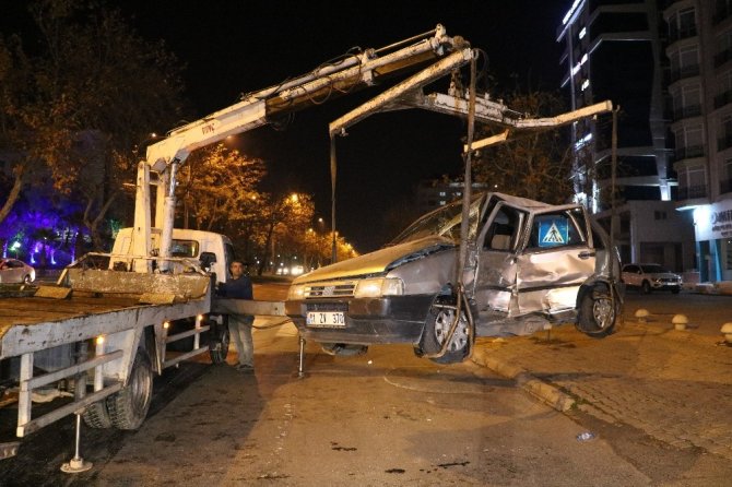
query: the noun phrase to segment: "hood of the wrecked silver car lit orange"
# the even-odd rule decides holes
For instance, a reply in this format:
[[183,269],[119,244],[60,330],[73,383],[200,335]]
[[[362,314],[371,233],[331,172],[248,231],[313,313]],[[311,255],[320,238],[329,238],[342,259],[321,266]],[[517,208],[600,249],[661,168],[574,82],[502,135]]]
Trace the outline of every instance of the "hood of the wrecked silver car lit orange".
[[402,263],[454,247],[456,243],[446,237],[427,236],[316,269],[295,278],[293,284],[380,275]]

